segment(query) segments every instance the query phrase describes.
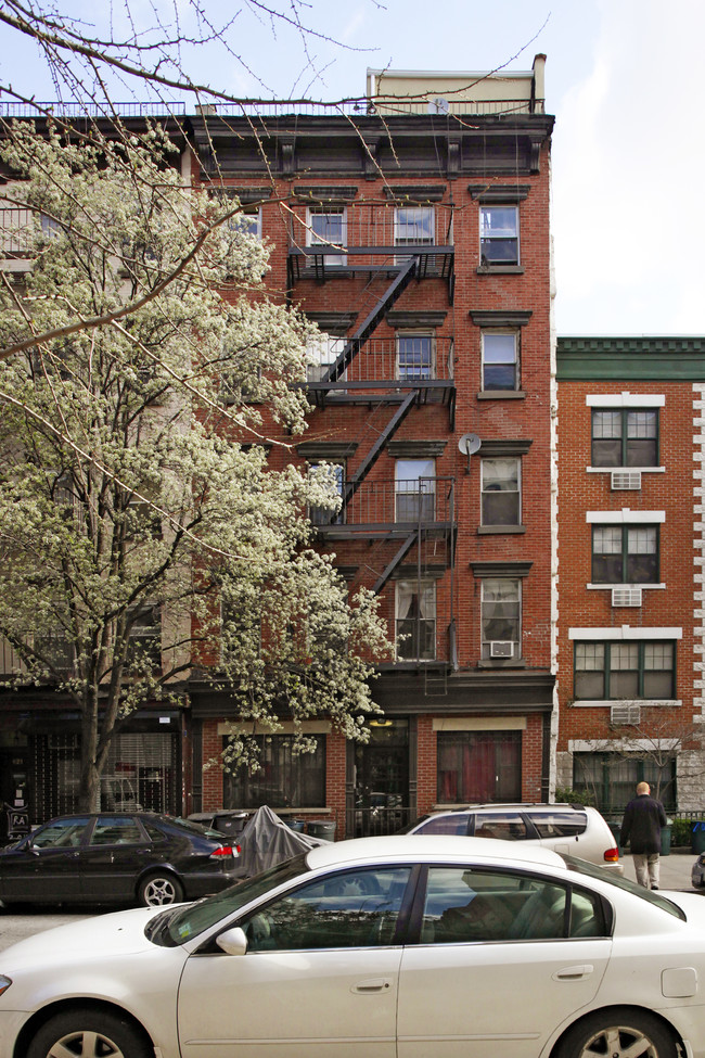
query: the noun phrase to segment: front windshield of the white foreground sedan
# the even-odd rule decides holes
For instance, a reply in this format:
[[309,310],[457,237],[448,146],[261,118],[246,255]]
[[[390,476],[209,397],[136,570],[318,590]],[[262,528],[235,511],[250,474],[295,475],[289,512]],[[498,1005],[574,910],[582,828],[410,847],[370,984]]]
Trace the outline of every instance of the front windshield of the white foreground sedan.
[[215,926],[216,922],[234,912],[239,912],[251,901],[264,896],[270,890],[277,889],[278,885],[282,885],[299,875],[305,875],[307,870],[306,854],[302,853],[293,859],[270,867],[261,875],[247,878],[229,889],[223,889],[215,896],[207,896],[205,900],[197,901],[195,904],[188,904],[176,910],[163,912],[150,919],[144,935],[149,941],[164,947],[176,947],[178,944],[184,944],[197,936],[198,933],[203,933],[204,930]]

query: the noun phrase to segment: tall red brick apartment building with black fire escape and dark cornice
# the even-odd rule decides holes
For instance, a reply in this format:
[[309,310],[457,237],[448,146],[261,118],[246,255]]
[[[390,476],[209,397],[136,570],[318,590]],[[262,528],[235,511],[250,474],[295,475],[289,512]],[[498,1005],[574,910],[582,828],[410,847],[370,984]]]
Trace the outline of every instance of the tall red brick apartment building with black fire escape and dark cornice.
[[273,244],[272,296],[322,332],[295,458],[339,468],[339,515],[311,512],[319,546],[351,590],[380,595],[397,653],[373,684],[384,717],[368,744],[311,722],[317,751],[294,756],[285,725],[262,732],[253,777],[202,770],[236,716],[193,679],[189,811],[266,801],[342,837],[549,793],[543,64],[370,72],[385,100],[367,113],[190,119],[192,178],[240,197]]

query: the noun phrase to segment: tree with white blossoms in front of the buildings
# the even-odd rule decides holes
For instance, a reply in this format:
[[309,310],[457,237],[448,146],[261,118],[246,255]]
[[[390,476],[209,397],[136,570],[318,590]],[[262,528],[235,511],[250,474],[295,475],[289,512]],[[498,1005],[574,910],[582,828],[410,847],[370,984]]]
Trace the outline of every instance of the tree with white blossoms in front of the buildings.
[[[80,712],[80,807],[118,719],[194,665],[242,719],[362,735],[385,630],[309,546],[333,475],[267,464],[305,428],[311,328],[264,296],[266,247],[158,129],[97,146],[20,125],[0,150],[34,245],[22,284],[0,273],[0,635],[15,685]],[[234,737],[229,761],[249,753]]]

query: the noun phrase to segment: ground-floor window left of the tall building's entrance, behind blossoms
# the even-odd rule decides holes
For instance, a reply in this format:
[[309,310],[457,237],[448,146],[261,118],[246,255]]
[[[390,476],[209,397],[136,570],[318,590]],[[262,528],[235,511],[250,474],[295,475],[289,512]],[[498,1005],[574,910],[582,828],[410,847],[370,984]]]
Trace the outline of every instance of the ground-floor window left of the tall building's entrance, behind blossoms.
[[325,736],[311,736],[312,752],[298,753],[293,735],[258,735],[260,769],[242,769],[225,776],[226,808],[296,806],[320,808],[325,804]]

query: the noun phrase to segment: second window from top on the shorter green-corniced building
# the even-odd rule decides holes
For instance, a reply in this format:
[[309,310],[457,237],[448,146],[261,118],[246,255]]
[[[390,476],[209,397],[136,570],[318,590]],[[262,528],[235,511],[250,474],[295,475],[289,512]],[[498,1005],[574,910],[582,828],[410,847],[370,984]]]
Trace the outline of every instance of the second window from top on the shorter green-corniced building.
[[592,581],[595,584],[656,584],[657,525],[593,525]]

